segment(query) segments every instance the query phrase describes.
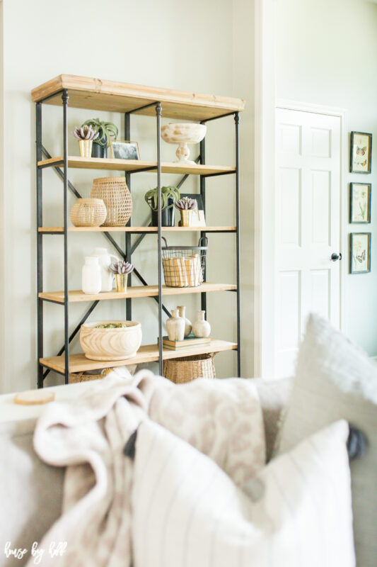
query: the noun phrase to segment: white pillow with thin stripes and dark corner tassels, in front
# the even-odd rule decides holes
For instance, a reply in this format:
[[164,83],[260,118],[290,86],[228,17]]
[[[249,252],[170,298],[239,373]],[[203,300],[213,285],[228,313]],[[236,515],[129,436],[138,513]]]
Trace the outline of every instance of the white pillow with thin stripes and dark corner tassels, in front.
[[141,423],[134,567],[354,567],[348,432],[344,420],[330,425],[241,490],[190,444]]

